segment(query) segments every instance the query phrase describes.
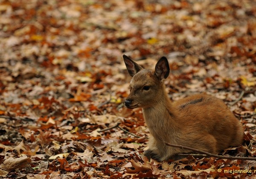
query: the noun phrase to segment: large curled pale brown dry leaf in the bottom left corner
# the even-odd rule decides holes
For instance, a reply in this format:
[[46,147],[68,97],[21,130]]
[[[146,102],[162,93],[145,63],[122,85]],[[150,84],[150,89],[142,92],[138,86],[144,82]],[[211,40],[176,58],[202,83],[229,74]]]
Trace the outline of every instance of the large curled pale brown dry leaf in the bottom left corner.
[[0,165],[1,170],[10,172],[13,169],[20,169],[29,166],[31,159],[27,156],[22,156],[20,158],[9,157]]

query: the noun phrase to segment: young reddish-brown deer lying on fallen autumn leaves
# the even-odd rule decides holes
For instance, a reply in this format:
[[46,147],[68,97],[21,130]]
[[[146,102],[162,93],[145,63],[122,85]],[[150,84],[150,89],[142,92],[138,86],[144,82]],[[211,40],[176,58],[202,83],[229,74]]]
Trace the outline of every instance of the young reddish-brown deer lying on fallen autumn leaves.
[[143,69],[125,55],[123,59],[132,76],[125,106],[129,109],[143,108],[151,133],[145,156],[158,161],[176,160],[182,158],[178,153],[191,152],[166,146],[164,141],[214,154],[242,143],[242,124],[220,99],[198,94],[170,101],[163,83],[170,72],[165,57],[160,58],[155,70]]

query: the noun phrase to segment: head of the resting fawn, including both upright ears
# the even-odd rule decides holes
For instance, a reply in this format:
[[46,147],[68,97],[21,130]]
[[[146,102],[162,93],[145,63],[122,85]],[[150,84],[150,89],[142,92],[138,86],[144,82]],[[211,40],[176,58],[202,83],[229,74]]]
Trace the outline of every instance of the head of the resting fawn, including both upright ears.
[[154,70],[143,69],[123,55],[125,65],[132,79],[130,82],[130,94],[125,100],[125,106],[129,109],[137,107],[148,108],[154,106],[160,98],[163,98],[163,79],[169,75],[168,60],[162,57],[157,62]]

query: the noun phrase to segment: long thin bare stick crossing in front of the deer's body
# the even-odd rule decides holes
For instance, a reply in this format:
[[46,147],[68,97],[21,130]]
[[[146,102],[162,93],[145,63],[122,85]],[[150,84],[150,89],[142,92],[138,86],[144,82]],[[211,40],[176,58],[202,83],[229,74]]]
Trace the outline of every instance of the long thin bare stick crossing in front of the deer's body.
[[205,151],[198,150],[198,149],[194,149],[194,148],[191,148],[191,147],[186,147],[186,146],[183,146],[183,145],[169,144],[169,143],[167,143],[167,142],[164,142],[164,143],[165,143],[166,145],[170,146],[170,147],[178,147],[178,148],[181,148],[181,149],[192,150],[192,151],[194,151],[194,152],[201,153],[201,154],[205,154],[205,155],[207,155],[207,156],[216,157],[216,158],[219,158],[219,159],[256,160],[256,157],[219,156],[219,155],[216,155],[216,154],[213,154],[213,153],[205,152]]

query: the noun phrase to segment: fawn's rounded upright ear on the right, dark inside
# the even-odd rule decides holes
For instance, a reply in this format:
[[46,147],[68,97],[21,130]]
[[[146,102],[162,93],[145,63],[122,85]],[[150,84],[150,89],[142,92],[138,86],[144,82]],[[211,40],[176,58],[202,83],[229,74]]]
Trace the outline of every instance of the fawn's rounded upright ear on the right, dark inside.
[[166,57],[161,57],[155,67],[155,75],[160,80],[166,79],[169,76],[170,67]]

